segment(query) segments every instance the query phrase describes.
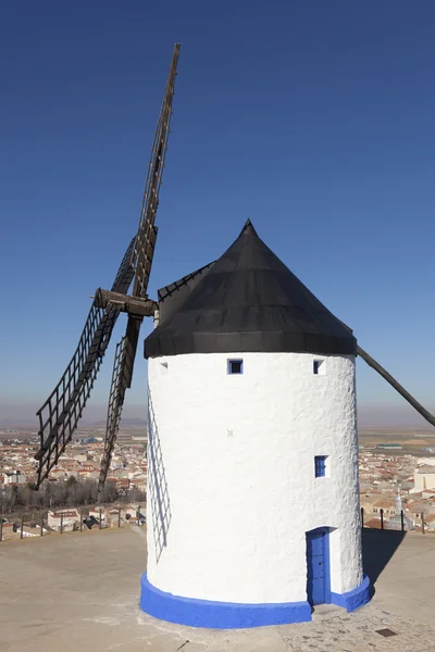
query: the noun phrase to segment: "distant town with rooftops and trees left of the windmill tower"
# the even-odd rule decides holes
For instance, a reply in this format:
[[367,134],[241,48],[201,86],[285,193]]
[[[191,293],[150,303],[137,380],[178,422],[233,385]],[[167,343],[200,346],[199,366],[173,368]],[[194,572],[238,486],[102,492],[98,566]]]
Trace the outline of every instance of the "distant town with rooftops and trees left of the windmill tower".
[[[104,429],[79,428],[39,491],[35,491],[39,436],[0,428],[0,516],[2,540],[145,522],[146,429],[119,432],[104,492],[97,482]],[[24,523],[23,523],[24,521]]]

